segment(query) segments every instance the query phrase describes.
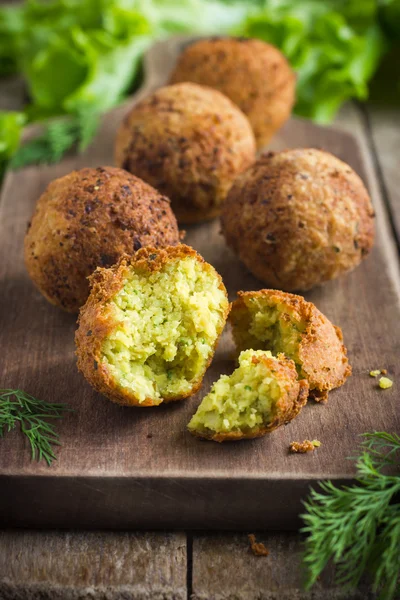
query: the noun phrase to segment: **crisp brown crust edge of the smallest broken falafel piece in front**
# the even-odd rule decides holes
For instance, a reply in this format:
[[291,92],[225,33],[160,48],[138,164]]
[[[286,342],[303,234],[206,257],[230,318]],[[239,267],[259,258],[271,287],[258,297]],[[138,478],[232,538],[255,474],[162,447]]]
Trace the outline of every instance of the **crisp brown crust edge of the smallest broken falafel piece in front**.
[[227,433],[200,432],[190,430],[194,436],[212,440],[214,442],[234,442],[236,440],[253,439],[263,437],[271,433],[281,425],[287,425],[294,419],[307,404],[309,386],[305,379],[298,381],[295,364],[284,354],[278,354],[278,360],[267,356],[253,357],[252,362],[257,364],[262,361],[274,373],[278,380],[287,381],[285,392],[276,403],[276,412],[274,418],[269,423],[249,432],[231,431]]

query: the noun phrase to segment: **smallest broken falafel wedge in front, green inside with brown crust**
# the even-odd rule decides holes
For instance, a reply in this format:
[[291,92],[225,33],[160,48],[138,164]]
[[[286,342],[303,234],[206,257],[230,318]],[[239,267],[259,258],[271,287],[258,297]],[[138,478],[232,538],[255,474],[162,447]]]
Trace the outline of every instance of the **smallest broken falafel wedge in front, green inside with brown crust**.
[[287,424],[307,402],[308,384],[298,381],[283,354],[245,350],[232,375],[222,375],[203,398],[188,429],[215,442],[256,438]]

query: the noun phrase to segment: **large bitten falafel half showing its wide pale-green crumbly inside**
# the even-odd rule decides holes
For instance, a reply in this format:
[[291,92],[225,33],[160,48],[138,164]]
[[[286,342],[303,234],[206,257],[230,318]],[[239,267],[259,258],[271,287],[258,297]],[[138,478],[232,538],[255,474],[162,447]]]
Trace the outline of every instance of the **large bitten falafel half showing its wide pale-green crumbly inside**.
[[142,248],[90,280],[75,339],[94,389],[126,406],[193,394],[229,312],[215,269],[185,245]]

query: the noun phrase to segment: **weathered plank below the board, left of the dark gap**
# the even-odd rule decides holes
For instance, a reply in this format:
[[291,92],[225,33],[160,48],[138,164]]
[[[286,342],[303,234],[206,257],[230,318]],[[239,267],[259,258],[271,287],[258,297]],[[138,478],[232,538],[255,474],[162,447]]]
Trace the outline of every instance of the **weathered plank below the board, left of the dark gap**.
[[183,600],[186,536],[0,531],[1,600]]

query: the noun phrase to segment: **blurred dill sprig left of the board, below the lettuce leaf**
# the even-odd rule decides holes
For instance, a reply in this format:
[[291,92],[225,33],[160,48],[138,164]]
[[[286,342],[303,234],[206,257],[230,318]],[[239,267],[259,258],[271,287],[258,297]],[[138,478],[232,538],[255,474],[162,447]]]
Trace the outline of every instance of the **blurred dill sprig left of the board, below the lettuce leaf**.
[[20,169],[32,164],[56,163],[74,146],[83,152],[96,135],[99,123],[99,113],[90,110],[53,119],[41,135],[18,148],[10,167]]

